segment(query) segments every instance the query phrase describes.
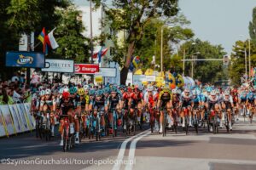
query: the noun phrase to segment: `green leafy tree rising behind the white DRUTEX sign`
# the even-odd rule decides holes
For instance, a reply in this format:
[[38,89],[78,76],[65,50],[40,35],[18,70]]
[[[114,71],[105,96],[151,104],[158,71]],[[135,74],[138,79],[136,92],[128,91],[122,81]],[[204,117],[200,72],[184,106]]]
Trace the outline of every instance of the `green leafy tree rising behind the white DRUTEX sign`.
[[84,26],[79,20],[79,11],[70,5],[67,8],[57,8],[55,14],[58,16],[55,38],[60,47],[52,54],[56,58],[74,59],[77,63],[88,62],[88,39],[82,32]]

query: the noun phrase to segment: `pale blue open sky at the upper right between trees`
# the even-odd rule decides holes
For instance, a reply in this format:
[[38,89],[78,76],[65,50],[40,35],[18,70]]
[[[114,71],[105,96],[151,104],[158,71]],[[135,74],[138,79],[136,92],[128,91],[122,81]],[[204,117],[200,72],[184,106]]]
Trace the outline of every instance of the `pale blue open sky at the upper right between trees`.
[[254,7],[256,0],[179,0],[195,37],[222,45],[228,54],[237,40],[249,38]]

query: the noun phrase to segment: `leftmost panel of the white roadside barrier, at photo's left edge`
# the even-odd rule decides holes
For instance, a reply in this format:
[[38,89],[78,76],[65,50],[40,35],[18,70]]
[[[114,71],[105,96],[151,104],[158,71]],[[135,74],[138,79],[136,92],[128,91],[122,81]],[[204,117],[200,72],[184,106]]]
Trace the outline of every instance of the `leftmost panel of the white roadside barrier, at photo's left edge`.
[[2,111],[3,121],[5,123],[5,127],[7,129],[8,135],[16,133],[15,127],[14,127],[14,122],[13,122],[12,116],[9,111],[9,106],[8,105],[0,105],[0,110]]

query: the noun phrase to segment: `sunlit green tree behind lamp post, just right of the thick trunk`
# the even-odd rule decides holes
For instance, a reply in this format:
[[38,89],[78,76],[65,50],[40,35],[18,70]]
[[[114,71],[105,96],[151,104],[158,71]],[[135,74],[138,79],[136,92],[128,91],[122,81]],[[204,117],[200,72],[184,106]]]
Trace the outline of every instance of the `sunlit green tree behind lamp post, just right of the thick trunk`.
[[[176,46],[182,40],[188,40],[194,36],[194,33],[189,28],[183,28],[183,15],[178,16],[179,20],[172,20],[172,27],[166,26],[167,21],[158,18],[149,20],[145,25],[143,37],[141,41],[136,42],[134,54],[139,55],[142,60],[141,67],[146,70],[152,61],[152,56],[155,55],[156,64],[160,65],[160,42],[161,42],[161,28],[163,28],[163,60],[165,70],[169,70],[173,65],[173,46]],[[189,24],[186,21],[186,24]],[[177,47],[175,47],[177,48]],[[171,65],[170,65],[171,64]]]

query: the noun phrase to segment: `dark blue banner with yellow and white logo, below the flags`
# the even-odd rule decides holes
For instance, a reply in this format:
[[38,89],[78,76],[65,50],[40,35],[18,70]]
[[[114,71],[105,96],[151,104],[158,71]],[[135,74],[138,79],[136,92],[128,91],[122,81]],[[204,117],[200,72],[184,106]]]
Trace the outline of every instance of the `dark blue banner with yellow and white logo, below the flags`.
[[11,67],[44,68],[44,54],[33,52],[6,52],[5,65]]

